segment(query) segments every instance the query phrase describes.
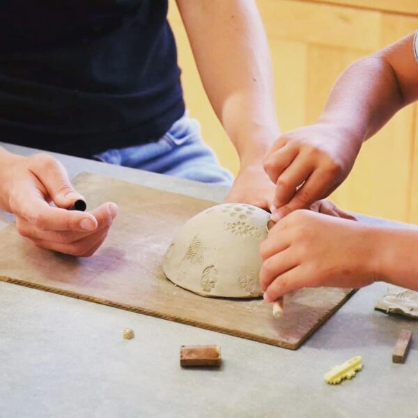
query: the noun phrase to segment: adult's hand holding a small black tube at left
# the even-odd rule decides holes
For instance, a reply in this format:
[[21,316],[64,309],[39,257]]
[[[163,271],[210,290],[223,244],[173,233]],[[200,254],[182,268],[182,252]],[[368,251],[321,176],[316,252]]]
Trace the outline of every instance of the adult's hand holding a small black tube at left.
[[67,210],[84,199],[61,162],[40,153],[21,157],[0,148],[0,208],[16,217],[17,231],[36,246],[73,256],[91,256],[117,215],[115,203],[91,212]]

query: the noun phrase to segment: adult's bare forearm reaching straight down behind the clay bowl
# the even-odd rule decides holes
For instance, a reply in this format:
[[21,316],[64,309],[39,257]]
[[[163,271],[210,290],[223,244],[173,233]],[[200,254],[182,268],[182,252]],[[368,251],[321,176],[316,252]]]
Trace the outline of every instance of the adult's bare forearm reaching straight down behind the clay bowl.
[[254,1],[178,0],[199,73],[242,163],[279,133],[267,40]]

